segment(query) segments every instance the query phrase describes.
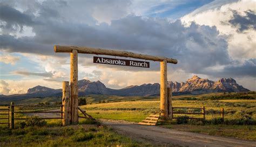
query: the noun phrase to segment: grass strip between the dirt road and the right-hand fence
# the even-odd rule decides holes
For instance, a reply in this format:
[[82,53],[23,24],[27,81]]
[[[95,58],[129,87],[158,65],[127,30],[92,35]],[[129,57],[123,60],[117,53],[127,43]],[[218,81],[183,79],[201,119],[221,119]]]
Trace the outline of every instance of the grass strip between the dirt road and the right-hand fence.
[[164,125],[164,128],[179,130],[179,131],[190,131],[193,133],[203,133],[207,135],[214,136],[227,136],[235,137],[240,139],[248,139],[256,141],[256,127],[255,126],[238,126],[238,125],[206,125],[206,126],[196,126],[190,124],[172,124]]

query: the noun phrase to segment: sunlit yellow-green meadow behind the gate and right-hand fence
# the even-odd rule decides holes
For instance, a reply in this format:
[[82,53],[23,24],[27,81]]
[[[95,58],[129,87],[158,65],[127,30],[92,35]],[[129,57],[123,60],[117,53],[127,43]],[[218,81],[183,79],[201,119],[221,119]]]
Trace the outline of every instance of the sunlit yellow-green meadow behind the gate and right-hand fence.
[[[159,111],[159,101],[126,101],[110,102],[105,104],[92,104],[80,106],[89,114],[96,118],[140,122],[150,113]],[[225,119],[233,119],[233,114],[237,111],[251,114],[256,120],[256,100],[174,100],[173,107],[202,107],[206,111],[225,110]],[[182,109],[181,109],[182,111]],[[174,115],[175,116],[175,115]],[[190,115],[192,117],[202,117],[202,115]],[[218,114],[206,115],[206,119],[220,117]]]

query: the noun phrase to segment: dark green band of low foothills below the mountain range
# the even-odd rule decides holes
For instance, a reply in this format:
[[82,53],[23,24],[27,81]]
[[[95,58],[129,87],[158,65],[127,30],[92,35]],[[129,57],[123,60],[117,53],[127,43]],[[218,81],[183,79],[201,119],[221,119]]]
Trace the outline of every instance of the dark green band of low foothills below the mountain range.
[[[106,102],[121,102],[121,101],[156,101],[159,100],[159,97],[141,97],[141,96],[132,96],[132,97],[122,97],[117,95],[86,95],[84,97],[79,98],[86,98],[87,104],[97,104],[99,101],[106,101]],[[200,94],[200,95],[178,95],[173,96],[173,100],[230,100],[230,99],[256,99],[255,92],[241,92],[241,93],[208,93],[208,94]],[[1,104],[10,104],[12,100],[8,101],[1,101]],[[60,97],[46,97],[46,98],[30,98],[30,99],[23,99],[23,100],[16,100],[13,101],[15,104],[38,104],[38,103],[48,103],[48,104],[55,104],[56,102],[61,103]]]

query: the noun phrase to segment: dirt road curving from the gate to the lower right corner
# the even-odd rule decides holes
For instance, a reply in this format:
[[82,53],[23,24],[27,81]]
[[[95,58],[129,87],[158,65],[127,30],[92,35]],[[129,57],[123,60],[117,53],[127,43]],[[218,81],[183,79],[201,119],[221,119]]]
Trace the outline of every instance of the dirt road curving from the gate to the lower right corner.
[[256,142],[236,138],[211,136],[198,133],[177,131],[157,126],[144,126],[129,122],[101,120],[117,133],[132,137],[137,141],[150,142],[154,145],[181,146],[256,146]]

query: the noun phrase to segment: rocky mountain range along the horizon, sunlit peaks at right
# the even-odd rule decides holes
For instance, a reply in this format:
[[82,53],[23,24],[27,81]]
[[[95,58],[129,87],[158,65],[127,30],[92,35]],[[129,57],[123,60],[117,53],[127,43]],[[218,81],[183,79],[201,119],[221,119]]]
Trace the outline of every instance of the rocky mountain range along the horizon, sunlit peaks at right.
[[[181,94],[204,94],[212,92],[246,92],[250,91],[241,85],[238,85],[233,78],[221,78],[217,82],[212,80],[193,76],[186,82],[168,82],[168,86],[172,87],[173,95]],[[82,79],[78,81],[79,96],[87,94],[107,94],[120,96],[158,96],[160,93],[160,84],[143,84],[124,87],[123,89],[110,89],[99,80],[91,82]],[[34,97],[61,97],[62,89],[51,89],[44,86],[32,87],[25,94],[0,95],[0,101],[6,99],[20,100]]]

